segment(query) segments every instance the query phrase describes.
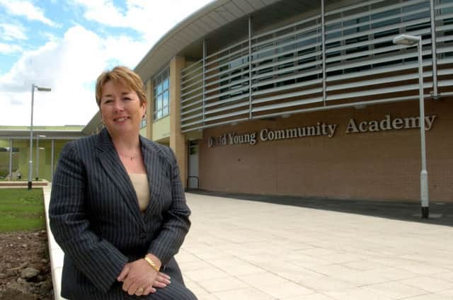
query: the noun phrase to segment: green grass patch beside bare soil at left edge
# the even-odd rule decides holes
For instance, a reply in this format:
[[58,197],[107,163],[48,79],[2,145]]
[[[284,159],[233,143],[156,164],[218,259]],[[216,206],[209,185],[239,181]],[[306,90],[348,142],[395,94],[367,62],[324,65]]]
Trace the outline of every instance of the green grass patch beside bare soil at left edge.
[[0,232],[45,229],[41,189],[0,189]]

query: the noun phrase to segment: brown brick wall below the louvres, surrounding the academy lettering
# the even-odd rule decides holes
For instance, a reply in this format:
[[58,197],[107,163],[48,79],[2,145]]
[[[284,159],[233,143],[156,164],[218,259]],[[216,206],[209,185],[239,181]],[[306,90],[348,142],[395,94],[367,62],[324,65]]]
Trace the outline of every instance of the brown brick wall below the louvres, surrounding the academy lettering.
[[[350,118],[416,117],[418,101],[330,110],[206,129],[200,141],[200,188],[224,192],[361,200],[420,199],[420,129],[346,134]],[[427,101],[437,115],[426,132],[430,200],[453,202],[453,99]],[[209,137],[337,124],[332,138],[302,137],[254,146],[208,147]]]

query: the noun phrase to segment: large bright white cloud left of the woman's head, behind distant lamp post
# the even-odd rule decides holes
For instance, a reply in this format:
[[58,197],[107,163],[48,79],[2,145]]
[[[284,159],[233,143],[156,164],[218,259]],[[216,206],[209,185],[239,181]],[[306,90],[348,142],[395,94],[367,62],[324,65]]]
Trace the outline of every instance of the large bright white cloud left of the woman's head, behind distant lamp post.
[[32,83],[52,88],[35,91],[35,125],[85,125],[97,105],[94,83],[114,60],[133,68],[149,47],[130,37],[100,37],[81,25],[62,40],[24,52],[11,70],[0,76],[0,125],[28,125]]

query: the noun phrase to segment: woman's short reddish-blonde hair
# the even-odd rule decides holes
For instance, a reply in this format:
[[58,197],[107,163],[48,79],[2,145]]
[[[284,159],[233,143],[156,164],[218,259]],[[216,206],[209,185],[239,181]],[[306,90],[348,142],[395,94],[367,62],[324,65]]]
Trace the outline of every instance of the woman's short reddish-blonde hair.
[[102,89],[107,81],[121,83],[125,88],[129,88],[139,96],[140,105],[147,103],[147,96],[144,93],[144,86],[140,76],[131,69],[123,66],[117,66],[111,71],[104,71],[96,80],[96,103],[101,106]]

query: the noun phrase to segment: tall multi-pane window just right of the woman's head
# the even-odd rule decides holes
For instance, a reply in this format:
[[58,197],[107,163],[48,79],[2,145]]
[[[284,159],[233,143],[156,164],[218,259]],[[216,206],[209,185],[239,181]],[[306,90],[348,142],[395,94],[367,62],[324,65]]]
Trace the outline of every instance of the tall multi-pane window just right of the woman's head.
[[170,71],[168,68],[154,77],[154,120],[170,113]]

